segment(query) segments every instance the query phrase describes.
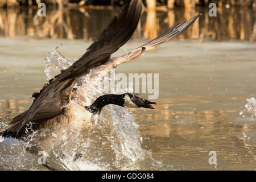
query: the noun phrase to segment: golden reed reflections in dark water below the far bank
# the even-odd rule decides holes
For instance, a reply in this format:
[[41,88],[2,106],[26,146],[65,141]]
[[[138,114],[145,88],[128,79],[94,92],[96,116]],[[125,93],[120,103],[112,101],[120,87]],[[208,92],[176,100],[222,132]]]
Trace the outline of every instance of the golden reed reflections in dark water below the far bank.
[[[1,9],[0,36],[40,36],[53,39],[89,39],[108,25],[118,10],[48,9],[39,17],[37,9]],[[211,37],[216,40],[256,40],[255,11],[251,9],[218,9],[209,17],[208,9],[148,10],[134,36],[155,38],[177,23],[203,13],[179,39]]]

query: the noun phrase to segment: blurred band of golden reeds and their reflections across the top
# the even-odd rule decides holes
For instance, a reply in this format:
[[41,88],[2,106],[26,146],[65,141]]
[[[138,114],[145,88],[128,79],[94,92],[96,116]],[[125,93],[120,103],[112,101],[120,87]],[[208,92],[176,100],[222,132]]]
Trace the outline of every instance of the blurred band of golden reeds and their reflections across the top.
[[[46,17],[39,17],[36,13],[40,2],[46,3]],[[134,37],[152,39],[193,15],[207,15],[211,2],[217,5],[217,16],[202,16],[200,22],[194,23],[179,39],[256,39],[256,0],[146,0],[143,1],[146,9]],[[129,3],[129,0],[2,0],[0,36],[94,39],[117,15],[118,6],[124,3]]]

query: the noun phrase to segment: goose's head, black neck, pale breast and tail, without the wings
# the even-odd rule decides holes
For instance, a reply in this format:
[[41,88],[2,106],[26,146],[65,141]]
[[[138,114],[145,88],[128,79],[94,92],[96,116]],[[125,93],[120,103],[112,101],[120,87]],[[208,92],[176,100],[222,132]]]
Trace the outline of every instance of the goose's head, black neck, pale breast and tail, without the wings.
[[89,127],[91,126],[91,123],[94,123],[96,115],[101,114],[102,108],[109,104],[130,108],[144,107],[148,109],[155,109],[151,104],[156,104],[156,102],[148,101],[137,93],[106,94],[98,97],[93,104],[89,106],[81,106],[72,100],[64,107],[63,114],[59,114],[52,119],[48,119],[47,121],[40,123],[38,126],[33,126],[30,129],[24,127],[20,130],[18,135],[7,130],[3,131],[0,135],[2,135],[2,137],[21,138],[24,137],[25,134],[30,134],[31,131],[51,127],[56,123],[68,123],[69,127],[75,128]]

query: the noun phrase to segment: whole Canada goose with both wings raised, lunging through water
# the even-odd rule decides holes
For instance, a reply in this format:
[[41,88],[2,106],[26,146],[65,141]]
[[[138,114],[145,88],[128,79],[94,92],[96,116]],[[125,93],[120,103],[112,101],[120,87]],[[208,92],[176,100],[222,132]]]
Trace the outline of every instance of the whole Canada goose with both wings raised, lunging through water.
[[39,93],[32,94],[35,100],[30,109],[13,118],[10,122],[11,127],[0,135],[3,137],[23,137],[29,123],[32,125],[32,130],[47,127],[54,122],[83,121],[86,123],[88,122],[84,121],[86,118],[82,118],[85,117],[85,114],[75,115],[75,113],[99,114],[102,107],[107,104],[154,109],[150,104],[156,104],[155,102],[144,100],[139,94],[130,93],[101,96],[90,106],[84,107],[76,103],[71,106],[71,103],[75,102],[72,100],[72,93],[75,93],[73,86],[81,76],[88,74],[93,68],[96,72],[107,72],[110,68],[115,68],[119,64],[142,56],[145,51],[154,49],[180,35],[201,15],[195,16],[188,22],[177,24],[158,38],[123,56],[110,59],[112,53],[117,51],[133,35],[141,15],[141,9],[140,0],[133,0],[130,5],[124,5],[118,18],[115,16],[108,28],[101,33],[96,42],[87,49],[87,52],[71,67],[49,80],[49,84],[44,85]]

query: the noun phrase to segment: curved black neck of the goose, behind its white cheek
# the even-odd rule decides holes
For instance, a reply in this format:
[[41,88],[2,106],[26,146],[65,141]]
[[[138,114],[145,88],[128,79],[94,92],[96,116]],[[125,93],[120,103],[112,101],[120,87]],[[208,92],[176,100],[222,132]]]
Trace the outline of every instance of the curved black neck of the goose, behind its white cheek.
[[125,94],[117,95],[117,94],[108,94],[104,96],[98,97],[92,105],[85,106],[85,109],[93,114],[100,114],[101,109],[109,104],[114,104],[118,106],[122,106],[125,104],[124,100]]

